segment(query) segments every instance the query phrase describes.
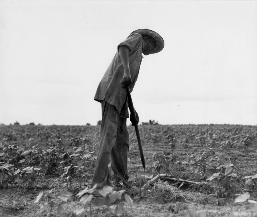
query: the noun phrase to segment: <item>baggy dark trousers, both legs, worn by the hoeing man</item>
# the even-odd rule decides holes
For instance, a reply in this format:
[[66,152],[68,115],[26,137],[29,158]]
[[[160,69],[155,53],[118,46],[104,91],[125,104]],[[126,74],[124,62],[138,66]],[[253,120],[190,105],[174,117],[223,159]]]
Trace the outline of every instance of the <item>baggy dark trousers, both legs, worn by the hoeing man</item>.
[[127,174],[127,160],[129,150],[129,135],[127,119],[121,118],[118,110],[103,100],[102,124],[100,131],[100,144],[92,180],[94,184],[110,185],[108,180],[108,164],[111,158],[111,168],[119,176],[124,185],[129,178]]

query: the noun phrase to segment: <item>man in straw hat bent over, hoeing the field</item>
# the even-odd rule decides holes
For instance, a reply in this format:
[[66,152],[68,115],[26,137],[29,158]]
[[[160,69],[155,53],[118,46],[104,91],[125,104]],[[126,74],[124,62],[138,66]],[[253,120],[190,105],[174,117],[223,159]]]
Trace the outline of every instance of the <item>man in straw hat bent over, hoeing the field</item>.
[[[164,47],[163,38],[149,29],[133,31],[118,45],[111,64],[100,81],[94,100],[102,105],[100,144],[95,164],[92,186],[111,185],[108,179],[108,164],[124,186],[128,183],[127,159],[129,135],[127,131],[128,100],[126,88],[132,92],[139,73],[142,53],[149,55],[160,52]],[[139,123],[138,114],[131,117],[132,125]]]

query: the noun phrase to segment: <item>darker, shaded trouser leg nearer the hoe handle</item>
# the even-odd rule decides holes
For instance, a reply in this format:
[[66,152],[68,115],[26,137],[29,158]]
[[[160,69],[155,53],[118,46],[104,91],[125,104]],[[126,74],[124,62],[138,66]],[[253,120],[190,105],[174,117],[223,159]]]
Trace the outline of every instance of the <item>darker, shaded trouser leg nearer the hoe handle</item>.
[[120,118],[117,128],[117,137],[113,149],[111,150],[111,168],[120,177],[124,185],[128,185],[127,173],[129,134],[127,131],[127,119]]

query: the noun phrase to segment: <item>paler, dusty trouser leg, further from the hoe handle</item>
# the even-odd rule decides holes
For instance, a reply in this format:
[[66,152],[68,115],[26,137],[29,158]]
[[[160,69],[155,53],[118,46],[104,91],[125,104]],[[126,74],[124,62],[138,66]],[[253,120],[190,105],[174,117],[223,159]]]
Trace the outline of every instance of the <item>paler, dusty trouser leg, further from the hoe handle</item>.
[[106,185],[108,178],[108,164],[110,153],[115,144],[117,127],[120,114],[115,106],[110,105],[105,100],[102,102],[102,124],[100,131],[100,143],[95,164],[95,171],[92,180],[94,184]]

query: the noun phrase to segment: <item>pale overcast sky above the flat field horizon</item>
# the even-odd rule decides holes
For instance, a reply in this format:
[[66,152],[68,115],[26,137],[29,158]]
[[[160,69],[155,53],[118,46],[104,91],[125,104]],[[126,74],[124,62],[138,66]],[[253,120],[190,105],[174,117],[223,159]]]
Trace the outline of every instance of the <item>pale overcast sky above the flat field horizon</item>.
[[140,28],[165,41],[131,94],[140,122],[257,124],[257,1],[1,1],[0,123],[96,125],[97,86]]

